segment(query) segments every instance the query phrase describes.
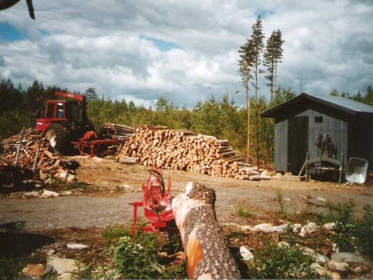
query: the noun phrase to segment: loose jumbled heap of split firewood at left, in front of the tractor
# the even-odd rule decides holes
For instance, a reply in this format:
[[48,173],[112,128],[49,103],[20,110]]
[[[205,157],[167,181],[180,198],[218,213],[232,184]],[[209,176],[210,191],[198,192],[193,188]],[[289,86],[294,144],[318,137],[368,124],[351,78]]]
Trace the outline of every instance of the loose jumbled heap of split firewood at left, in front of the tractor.
[[[1,170],[3,170],[3,172],[5,172],[4,170],[9,171],[10,167],[15,166],[21,137],[22,133],[1,141],[3,152],[0,155],[0,165],[2,166],[2,169],[0,169],[0,176]],[[31,171],[34,167],[37,151],[38,158],[35,166],[36,178],[45,180],[55,176],[64,181],[74,181],[76,179],[75,172],[64,167],[66,161],[62,160],[59,154],[54,151],[49,141],[41,139],[41,133],[32,128],[24,130],[17,169]]]

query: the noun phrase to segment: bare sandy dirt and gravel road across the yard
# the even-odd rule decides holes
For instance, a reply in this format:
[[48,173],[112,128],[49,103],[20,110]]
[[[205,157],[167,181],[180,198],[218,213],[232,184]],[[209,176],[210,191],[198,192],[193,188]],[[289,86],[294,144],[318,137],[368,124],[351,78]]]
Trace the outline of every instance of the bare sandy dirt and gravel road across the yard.
[[[84,193],[55,198],[9,198],[0,199],[0,224],[24,221],[25,230],[47,230],[53,228],[104,227],[132,220],[130,202],[141,200],[141,183],[148,177],[147,167],[121,165],[113,160],[78,158],[80,181],[98,186],[101,192]],[[293,181],[239,181],[222,179],[188,172],[164,171],[167,181],[171,176],[174,194],[181,192],[189,181],[198,181],[216,190],[216,211],[220,221],[232,221],[237,204],[251,209],[258,221],[266,218],[273,221],[279,205],[276,191],[281,190],[290,212],[319,212],[325,210],[323,197],[330,202],[345,202],[353,199],[358,211],[363,205],[373,204],[373,188],[337,185],[321,182]],[[119,190],[120,186],[133,186],[133,190]],[[269,218],[272,217],[272,218]],[[255,219],[254,219],[255,220]],[[248,221],[255,222],[255,221]]]

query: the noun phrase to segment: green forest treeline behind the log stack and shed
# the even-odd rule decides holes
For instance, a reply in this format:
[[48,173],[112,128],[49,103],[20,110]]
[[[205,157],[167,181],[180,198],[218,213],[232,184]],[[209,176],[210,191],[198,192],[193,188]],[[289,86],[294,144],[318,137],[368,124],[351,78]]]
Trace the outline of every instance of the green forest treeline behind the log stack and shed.
[[[55,90],[67,90],[56,86],[45,87],[37,80],[27,89],[19,85],[15,87],[12,80],[0,81],[0,139],[9,137],[22,130],[23,126],[29,127],[31,111],[35,106],[36,98],[52,98]],[[92,97],[89,88],[85,92]],[[373,106],[373,90],[368,87],[365,93],[346,94],[332,90],[332,95],[342,95],[359,102]],[[267,102],[265,97],[258,98],[258,113],[262,113],[288,99],[296,96],[290,88],[279,87],[274,94],[274,100]],[[164,98],[158,99],[154,107],[136,106],[134,102],[125,99],[111,101],[98,98],[88,98],[88,116],[96,130],[105,123],[120,123],[136,127],[138,125],[167,125],[171,129],[187,128],[202,134],[209,134],[219,139],[228,139],[242,155],[246,154],[247,143],[247,111],[246,106],[239,106],[232,96],[226,94],[223,99],[210,99],[197,102],[192,108],[181,108],[177,104],[168,102]],[[256,122],[255,99],[250,100],[251,123]],[[265,164],[271,164],[274,156],[274,121],[268,118],[260,118],[259,122],[259,155]],[[250,126],[251,137],[256,137],[255,125]],[[256,155],[255,141],[251,141],[250,153]]]

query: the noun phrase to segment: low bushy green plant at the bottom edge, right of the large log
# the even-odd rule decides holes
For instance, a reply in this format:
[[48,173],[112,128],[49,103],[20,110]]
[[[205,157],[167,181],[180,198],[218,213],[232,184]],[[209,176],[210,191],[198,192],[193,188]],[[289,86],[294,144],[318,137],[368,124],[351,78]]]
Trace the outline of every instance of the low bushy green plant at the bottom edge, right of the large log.
[[293,246],[279,247],[265,244],[254,253],[251,265],[253,279],[319,279],[320,276],[311,268],[315,261],[311,255]]

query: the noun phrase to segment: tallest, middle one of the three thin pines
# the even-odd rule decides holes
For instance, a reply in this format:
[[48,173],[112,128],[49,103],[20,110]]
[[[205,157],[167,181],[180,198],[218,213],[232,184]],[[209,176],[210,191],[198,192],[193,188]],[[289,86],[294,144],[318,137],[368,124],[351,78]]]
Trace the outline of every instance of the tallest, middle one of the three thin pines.
[[252,52],[253,52],[253,65],[255,66],[255,127],[256,127],[256,161],[258,168],[259,162],[259,112],[258,112],[258,71],[260,65],[260,55],[264,48],[265,35],[263,33],[262,18],[258,16],[256,22],[253,24],[253,34],[251,34]]

